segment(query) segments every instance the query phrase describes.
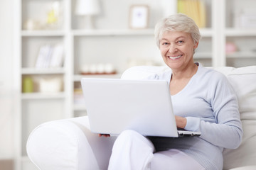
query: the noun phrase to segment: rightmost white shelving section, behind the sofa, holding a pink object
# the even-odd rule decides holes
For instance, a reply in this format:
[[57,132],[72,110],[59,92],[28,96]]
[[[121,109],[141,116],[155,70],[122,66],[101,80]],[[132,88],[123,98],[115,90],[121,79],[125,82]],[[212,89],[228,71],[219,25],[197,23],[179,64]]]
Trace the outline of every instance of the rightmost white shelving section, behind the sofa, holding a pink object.
[[[245,24],[237,24],[238,16],[245,13],[255,15],[254,6],[256,2],[253,0],[225,1],[225,42],[231,42],[236,46],[237,50],[225,56],[226,64],[233,67],[242,67],[246,65],[256,64],[256,24],[254,27]],[[240,20],[242,21],[242,20]]]

